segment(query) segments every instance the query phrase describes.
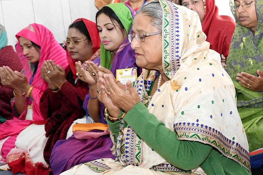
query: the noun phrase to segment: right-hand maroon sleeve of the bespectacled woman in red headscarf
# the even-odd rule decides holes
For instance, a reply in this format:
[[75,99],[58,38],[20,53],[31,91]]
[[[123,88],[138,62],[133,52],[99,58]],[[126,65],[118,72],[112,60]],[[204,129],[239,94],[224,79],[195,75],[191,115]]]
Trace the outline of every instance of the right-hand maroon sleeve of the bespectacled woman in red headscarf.
[[88,85],[80,80],[77,82],[76,87],[66,81],[63,83],[60,90],[74,106],[80,109],[82,109],[86,94],[89,93]]

